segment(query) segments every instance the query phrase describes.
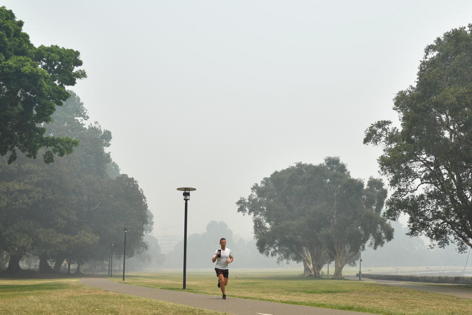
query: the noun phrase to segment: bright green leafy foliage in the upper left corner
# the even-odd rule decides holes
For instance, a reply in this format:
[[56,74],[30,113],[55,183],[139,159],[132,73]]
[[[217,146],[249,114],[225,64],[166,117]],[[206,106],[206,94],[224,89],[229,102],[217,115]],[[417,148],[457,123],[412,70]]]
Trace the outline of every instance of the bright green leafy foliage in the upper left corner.
[[22,32],[23,21],[0,7],[0,156],[9,154],[10,164],[17,150],[36,158],[45,148],[43,159],[70,154],[78,140],[45,135],[56,106],[69,97],[65,86],[85,78],[80,54],[56,45],[39,46]]

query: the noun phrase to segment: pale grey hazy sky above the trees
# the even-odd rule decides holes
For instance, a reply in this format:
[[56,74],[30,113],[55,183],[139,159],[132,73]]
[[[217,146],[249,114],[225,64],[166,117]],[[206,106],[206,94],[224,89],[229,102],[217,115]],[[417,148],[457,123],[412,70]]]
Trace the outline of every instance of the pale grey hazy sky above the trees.
[[[339,156],[378,175],[364,130],[395,119],[426,45],[472,23],[472,1],[3,0],[34,45],[79,50],[74,90],[113,134],[110,151],[154,214],[154,235],[225,221],[235,202],[295,162]],[[219,238],[220,236],[216,236]]]

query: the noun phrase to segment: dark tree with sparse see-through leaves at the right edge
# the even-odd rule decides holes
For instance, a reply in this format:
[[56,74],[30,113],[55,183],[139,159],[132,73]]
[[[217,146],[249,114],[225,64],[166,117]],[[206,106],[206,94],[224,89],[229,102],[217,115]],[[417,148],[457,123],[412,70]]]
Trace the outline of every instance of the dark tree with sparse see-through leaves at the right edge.
[[386,216],[409,215],[410,235],[472,247],[472,25],[425,48],[414,86],[398,92],[401,126],[378,121],[364,144],[383,146],[381,171],[394,189]]

